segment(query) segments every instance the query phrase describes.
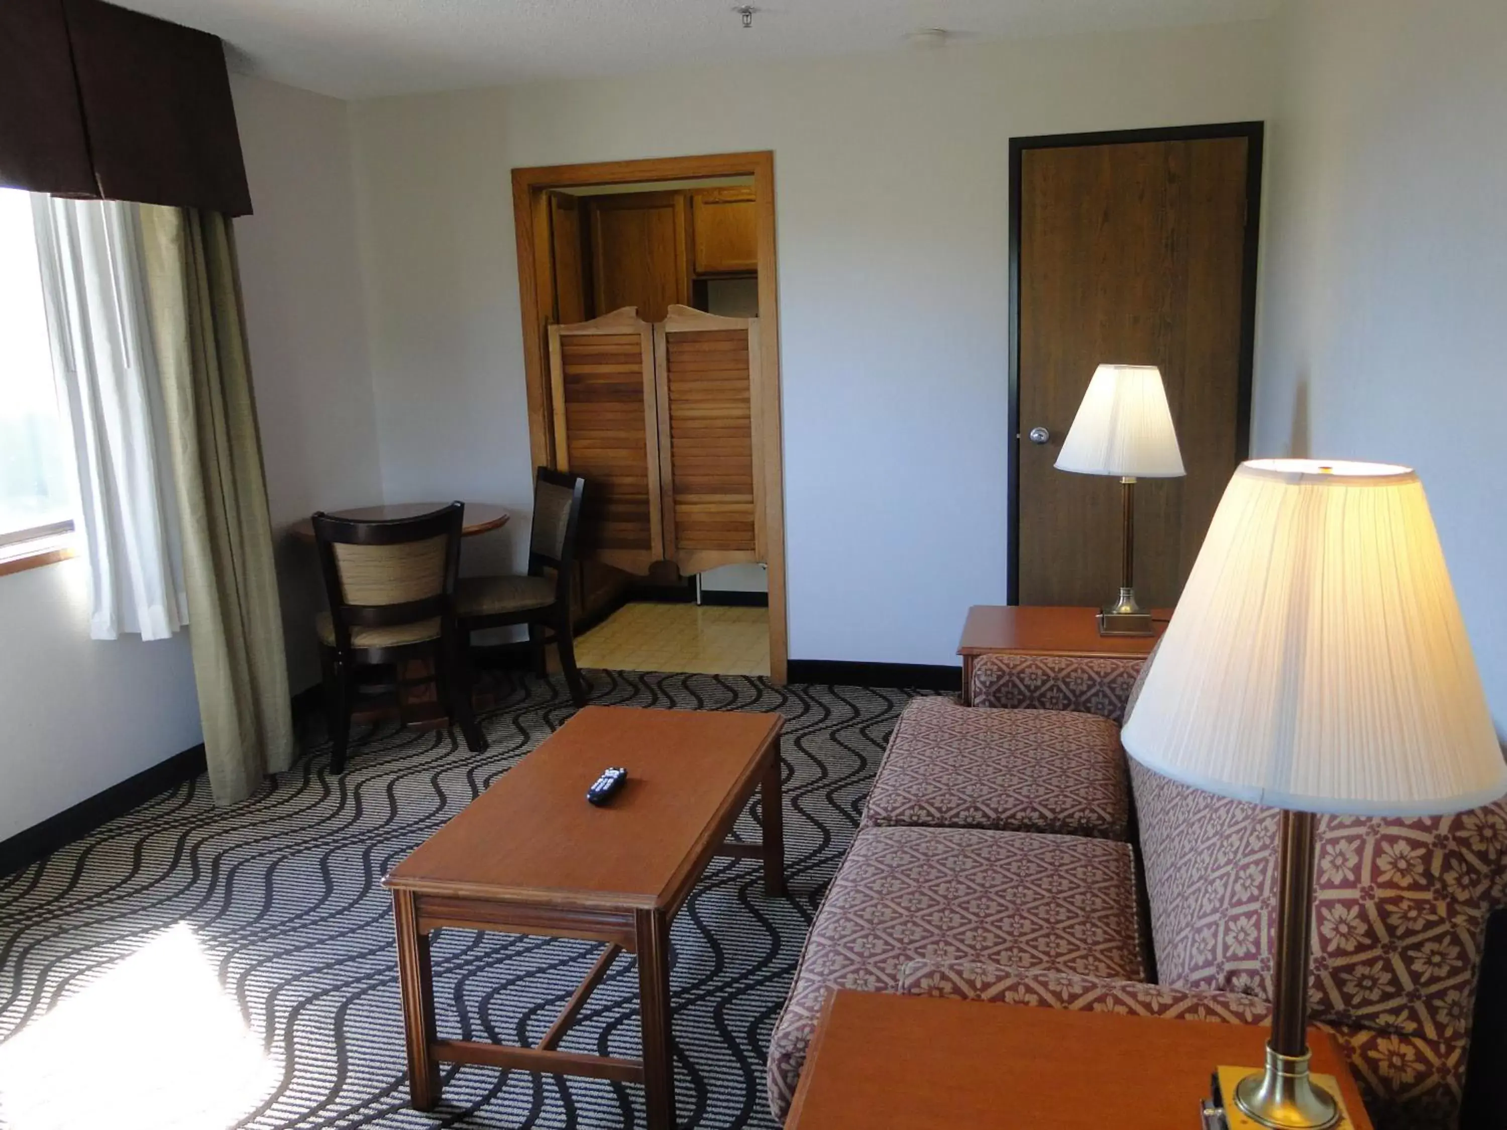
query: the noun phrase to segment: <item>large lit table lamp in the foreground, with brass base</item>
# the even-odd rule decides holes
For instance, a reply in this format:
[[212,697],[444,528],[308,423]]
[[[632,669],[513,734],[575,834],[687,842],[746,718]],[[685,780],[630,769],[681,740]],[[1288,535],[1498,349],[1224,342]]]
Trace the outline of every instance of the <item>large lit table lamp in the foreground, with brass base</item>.
[[1314,814],[1442,815],[1507,793],[1418,476],[1242,464],[1121,740],[1157,773],[1282,809],[1266,1067],[1219,1067],[1221,1091],[1231,1127],[1337,1125],[1308,1074]]

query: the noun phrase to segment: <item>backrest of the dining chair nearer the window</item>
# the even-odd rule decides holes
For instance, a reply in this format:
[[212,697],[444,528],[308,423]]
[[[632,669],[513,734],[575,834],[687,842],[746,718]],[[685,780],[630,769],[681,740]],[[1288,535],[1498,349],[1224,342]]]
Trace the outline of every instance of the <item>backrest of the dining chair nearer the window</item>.
[[330,601],[335,640],[351,646],[351,628],[384,628],[455,616],[464,503],[411,518],[354,521],[313,515],[313,539]]

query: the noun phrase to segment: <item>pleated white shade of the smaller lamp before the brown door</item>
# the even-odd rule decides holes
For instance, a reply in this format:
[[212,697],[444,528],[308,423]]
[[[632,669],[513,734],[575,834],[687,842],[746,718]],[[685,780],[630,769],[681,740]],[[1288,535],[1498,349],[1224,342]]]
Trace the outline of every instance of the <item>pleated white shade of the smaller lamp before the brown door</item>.
[[1183,475],[1162,371],[1154,365],[1100,365],[1056,457],[1058,470],[1175,479]]

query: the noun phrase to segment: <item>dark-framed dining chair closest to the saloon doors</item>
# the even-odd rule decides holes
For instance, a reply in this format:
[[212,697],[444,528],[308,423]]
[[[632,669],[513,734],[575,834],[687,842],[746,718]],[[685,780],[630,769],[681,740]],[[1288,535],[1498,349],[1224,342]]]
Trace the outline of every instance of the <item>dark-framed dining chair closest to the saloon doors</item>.
[[[586,481],[579,475],[540,467],[533,475],[527,574],[461,577],[455,597],[461,631],[467,636],[482,628],[526,624],[529,639],[538,645],[541,655],[555,643],[565,686],[577,707],[586,702],[586,684],[576,666],[570,592],[585,491]],[[546,570],[555,576],[544,576]]]

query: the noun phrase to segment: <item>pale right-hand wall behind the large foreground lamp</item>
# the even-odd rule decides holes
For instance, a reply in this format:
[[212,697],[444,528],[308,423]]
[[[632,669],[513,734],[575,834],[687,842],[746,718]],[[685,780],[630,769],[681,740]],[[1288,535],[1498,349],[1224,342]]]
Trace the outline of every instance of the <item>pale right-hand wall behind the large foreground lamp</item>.
[[1507,5],[1293,3],[1257,454],[1418,469],[1507,729]]

